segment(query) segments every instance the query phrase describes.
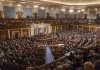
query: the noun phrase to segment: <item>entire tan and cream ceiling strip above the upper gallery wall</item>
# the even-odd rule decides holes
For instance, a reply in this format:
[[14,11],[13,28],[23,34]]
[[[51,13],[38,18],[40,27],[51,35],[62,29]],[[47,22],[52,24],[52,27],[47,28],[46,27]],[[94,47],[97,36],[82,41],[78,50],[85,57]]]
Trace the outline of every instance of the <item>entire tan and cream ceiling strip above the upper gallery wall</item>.
[[100,0],[0,0],[3,5],[16,6],[22,4],[23,6],[49,6],[49,7],[100,7]]

